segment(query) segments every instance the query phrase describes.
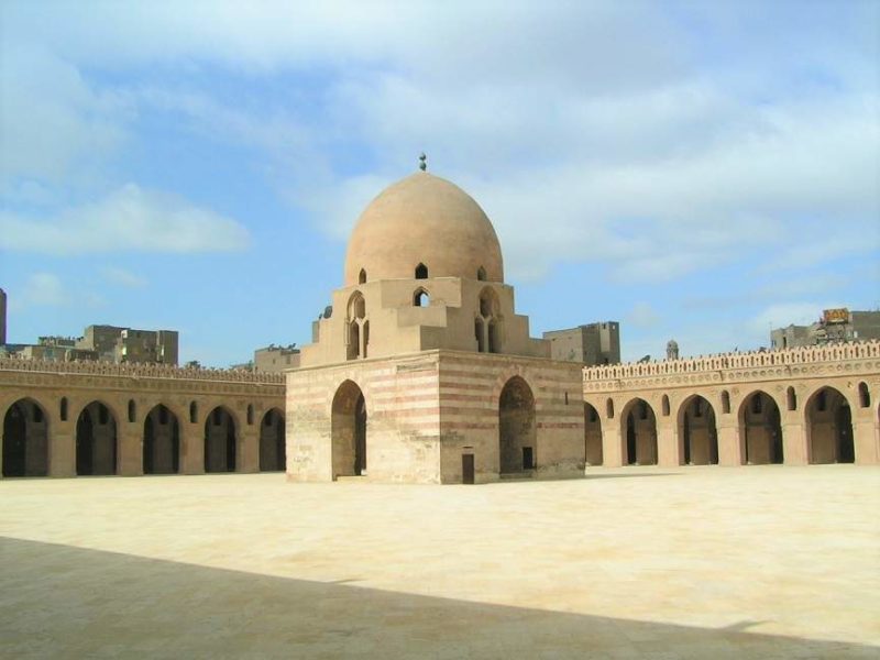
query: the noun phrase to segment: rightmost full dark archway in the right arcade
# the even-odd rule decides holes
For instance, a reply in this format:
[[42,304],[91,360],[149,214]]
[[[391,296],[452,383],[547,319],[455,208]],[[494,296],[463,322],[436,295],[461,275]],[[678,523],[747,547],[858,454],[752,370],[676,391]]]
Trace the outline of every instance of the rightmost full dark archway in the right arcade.
[[806,404],[806,439],[811,463],[854,463],[853,414],[834,387],[823,387]]

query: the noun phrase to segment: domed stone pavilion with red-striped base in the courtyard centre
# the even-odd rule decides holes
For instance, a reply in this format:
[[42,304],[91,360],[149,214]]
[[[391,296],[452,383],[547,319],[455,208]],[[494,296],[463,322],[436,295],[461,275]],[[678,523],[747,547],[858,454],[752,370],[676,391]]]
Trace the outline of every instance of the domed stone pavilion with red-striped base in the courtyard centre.
[[583,473],[580,365],[529,337],[492,222],[443,178],[367,205],[312,341],[287,374],[290,480]]

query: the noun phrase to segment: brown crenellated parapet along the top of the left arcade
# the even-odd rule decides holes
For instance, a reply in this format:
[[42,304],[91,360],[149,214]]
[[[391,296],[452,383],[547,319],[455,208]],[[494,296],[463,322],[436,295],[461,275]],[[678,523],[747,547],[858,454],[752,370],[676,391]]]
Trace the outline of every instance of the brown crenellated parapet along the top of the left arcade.
[[92,374],[99,376],[127,376],[130,378],[174,378],[182,381],[222,381],[227,383],[256,383],[283,385],[284,374],[253,373],[243,370],[172,366],[166,364],[139,364],[111,362],[61,362],[52,360],[24,360],[0,358],[0,371],[29,371],[52,374]]

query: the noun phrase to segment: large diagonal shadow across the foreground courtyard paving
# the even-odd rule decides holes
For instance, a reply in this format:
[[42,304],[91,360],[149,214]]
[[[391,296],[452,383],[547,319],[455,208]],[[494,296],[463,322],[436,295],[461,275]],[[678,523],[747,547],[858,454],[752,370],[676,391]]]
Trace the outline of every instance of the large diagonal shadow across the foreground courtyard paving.
[[0,657],[877,658],[866,646],[745,631],[752,622],[692,628],[345,582],[2,538]]

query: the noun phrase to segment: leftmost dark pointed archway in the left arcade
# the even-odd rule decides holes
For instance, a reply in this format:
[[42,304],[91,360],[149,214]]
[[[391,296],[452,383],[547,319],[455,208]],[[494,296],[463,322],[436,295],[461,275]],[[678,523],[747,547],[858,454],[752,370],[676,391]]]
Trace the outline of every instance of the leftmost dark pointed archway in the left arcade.
[[48,474],[48,419],[35,400],[22,398],[3,417],[3,476]]

